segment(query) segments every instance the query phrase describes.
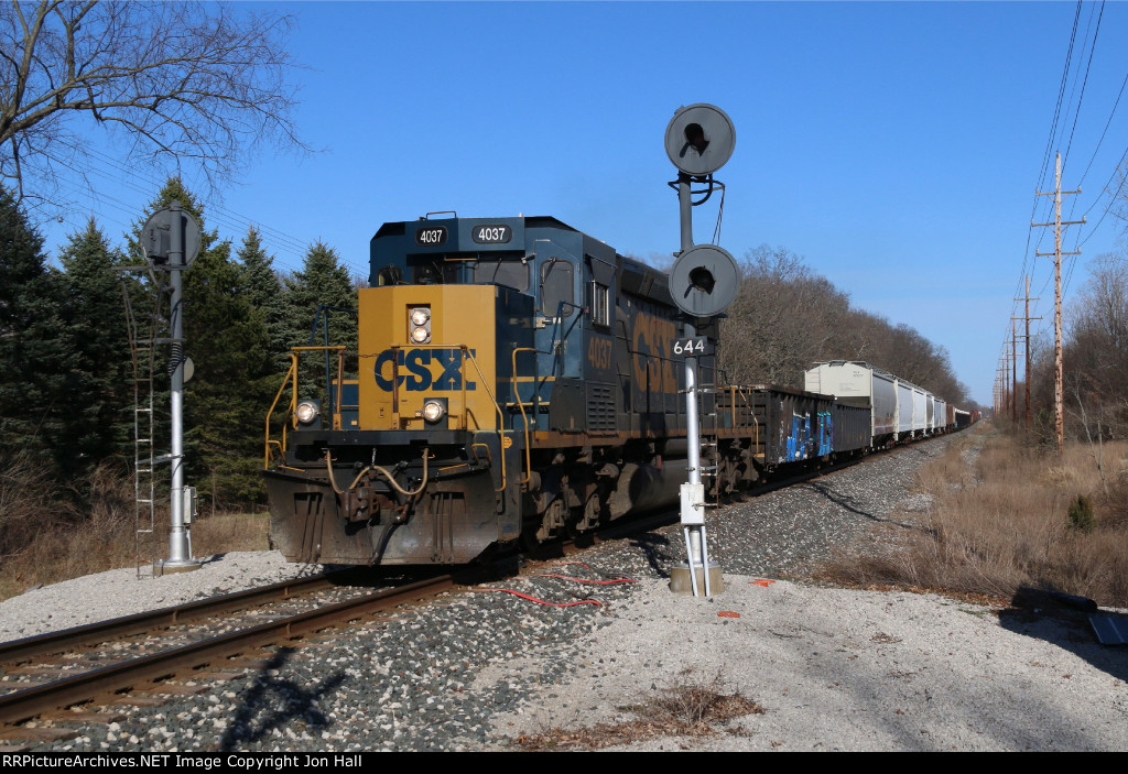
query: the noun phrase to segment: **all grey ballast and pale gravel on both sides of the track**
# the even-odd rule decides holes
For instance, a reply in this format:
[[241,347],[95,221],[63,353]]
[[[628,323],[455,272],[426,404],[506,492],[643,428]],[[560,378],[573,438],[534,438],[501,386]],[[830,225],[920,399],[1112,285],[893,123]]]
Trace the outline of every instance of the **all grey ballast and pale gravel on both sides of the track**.
[[[670,593],[684,560],[675,525],[538,568],[608,581],[523,576],[336,631],[241,679],[159,708],[116,708],[54,750],[506,750],[553,728],[620,724],[656,693],[712,684],[763,713],[713,736],[658,737],[638,750],[1123,750],[1128,651],[1082,620],[934,595],[807,580],[835,546],[927,498],[916,469],[953,438],[711,511],[725,590]],[[117,570],[0,604],[0,639],[238,590],[320,568],[228,553],[203,569],[138,580]],[[774,581],[774,582],[768,582]],[[547,606],[509,594],[510,588]],[[599,604],[592,604],[598,602]],[[723,615],[722,615],[723,613]]]

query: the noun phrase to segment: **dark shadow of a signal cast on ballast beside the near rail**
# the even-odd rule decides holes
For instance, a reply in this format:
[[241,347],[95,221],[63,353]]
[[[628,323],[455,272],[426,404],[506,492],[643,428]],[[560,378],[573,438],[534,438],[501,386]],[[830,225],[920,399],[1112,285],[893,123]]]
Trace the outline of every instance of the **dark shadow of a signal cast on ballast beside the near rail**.
[[308,727],[310,736],[319,739],[318,729],[333,721],[315,702],[344,682],[344,673],[331,675],[320,685],[306,686],[292,679],[272,677],[271,671],[280,669],[296,651],[279,648],[270,661],[255,677],[250,688],[243,694],[243,701],[223,731],[219,749],[223,753],[244,750],[250,742],[272,736],[274,729],[289,728],[300,731]]

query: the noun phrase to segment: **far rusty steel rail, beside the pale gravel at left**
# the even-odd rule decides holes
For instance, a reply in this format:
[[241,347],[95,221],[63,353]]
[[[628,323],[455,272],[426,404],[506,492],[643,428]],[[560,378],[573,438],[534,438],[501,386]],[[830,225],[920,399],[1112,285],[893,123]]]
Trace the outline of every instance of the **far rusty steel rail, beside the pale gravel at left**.
[[35,656],[47,656],[78,648],[108,642],[130,634],[140,634],[152,629],[161,629],[178,623],[197,621],[211,615],[231,613],[276,599],[285,599],[299,594],[309,594],[336,586],[350,570],[336,570],[308,578],[283,580],[270,586],[235,591],[184,605],[162,607],[156,611],[126,615],[120,619],[64,629],[46,634],[35,634],[21,640],[0,643],[0,664],[18,664]]

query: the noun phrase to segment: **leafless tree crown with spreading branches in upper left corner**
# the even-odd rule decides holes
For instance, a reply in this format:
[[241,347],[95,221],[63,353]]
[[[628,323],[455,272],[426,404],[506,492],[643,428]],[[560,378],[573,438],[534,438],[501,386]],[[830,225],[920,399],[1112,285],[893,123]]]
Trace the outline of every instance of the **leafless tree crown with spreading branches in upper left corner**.
[[[0,6],[0,183],[51,202],[94,142],[125,159],[191,159],[215,187],[259,143],[305,149],[290,113],[289,16],[196,2]],[[68,171],[70,170],[70,171]]]

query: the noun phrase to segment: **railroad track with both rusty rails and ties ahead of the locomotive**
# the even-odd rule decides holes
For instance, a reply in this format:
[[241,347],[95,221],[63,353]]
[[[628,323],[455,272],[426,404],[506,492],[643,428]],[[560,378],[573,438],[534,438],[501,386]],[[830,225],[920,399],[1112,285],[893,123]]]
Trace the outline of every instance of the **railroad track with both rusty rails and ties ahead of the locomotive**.
[[[264,599],[289,598],[296,593],[310,593],[340,582],[336,575],[317,576],[301,581],[274,584],[270,587],[214,597],[153,613],[117,619],[89,626],[17,640],[0,646],[0,668],[6,676],[11,669],[27,675],[45,675],[54,668],[53,679],[44,684],[20,687],[0,696],[0,745],[37,742],[65,738],[65,728],[27,728],[32,719],[90,722],[113,722],[109,712],[92,708],[107,704],[156,703],[160,695],[202,693],[209,683],[241,676],[247,669],[262,669],[270,653],[261,649],[293,644],[325,629],[363,620],[398,605],[433,596],[451,588],[452,576],[435,576],[393,588],[361,594],[331,605],[282,614],[275,620],[241,625],[235,631],[203,637],[186,644],[158,648],[153,652],[121,658],[123,648],[105,650],[100,646],[120,642],[120,638],[152,632],[186,620],[197,621],[232,610],[245,610]],[[97,658],[68,670],[60,665],[71,660],[68,653],[81,655],[99,648]],[[257,651],[257,652],[256,652]],[[90,665],[94,666],[90,666]],[[67,673],[59,676],[58,673]],[[188,685],[197,683],[202,685]],[[0,683],[2,686],[3,683]],[[83,708],[74,711],[73,708]]]

